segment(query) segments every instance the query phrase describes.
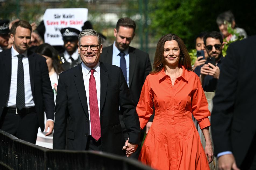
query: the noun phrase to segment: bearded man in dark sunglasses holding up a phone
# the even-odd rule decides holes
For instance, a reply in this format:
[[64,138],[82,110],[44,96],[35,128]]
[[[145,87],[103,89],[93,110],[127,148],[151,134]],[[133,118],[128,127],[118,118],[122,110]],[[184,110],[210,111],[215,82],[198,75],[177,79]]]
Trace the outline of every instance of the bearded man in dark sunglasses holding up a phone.
[[220,75],[220,68],[224,60],[224,57],[222,56],[222,35],[217,31],[212,31],[205,35],[204,44],[209,56],[208,59],[215,59],[216,63],[202,65],[200,68],[201,75],[199,77],[204,91],[215,91]]

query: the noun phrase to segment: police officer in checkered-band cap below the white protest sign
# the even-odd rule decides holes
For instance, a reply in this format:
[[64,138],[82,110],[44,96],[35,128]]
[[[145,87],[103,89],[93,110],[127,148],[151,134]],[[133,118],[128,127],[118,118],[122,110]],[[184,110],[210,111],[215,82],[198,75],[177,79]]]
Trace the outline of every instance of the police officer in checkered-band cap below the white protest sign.
[[80,31],[78,29],[69,27],[62,28],[60,31],[64,41],[65,51],[59,53],[59,56],[64,70],[68,70],[81,63],[77,50],[78,35]]

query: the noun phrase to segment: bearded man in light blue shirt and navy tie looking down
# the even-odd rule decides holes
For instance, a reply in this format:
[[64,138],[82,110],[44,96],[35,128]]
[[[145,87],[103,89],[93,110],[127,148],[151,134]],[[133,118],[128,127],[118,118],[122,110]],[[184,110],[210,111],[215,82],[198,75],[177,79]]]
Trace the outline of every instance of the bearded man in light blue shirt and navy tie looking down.
[[[114,29],[115,42],[111,46],[103,48],[100,61],[121,67],[129,86],[132,100],[135,102],[135,105],[137,105],[142,86],[149,72],[152,70],[152,67],[148,53],[129,46],[135,36],[135,29],[136,24],[132,19],[127,17],[119,19]],[[123,54],[123,56],[121,54]],[[120,120],[124,134],[127,134],[122,117],[120,117]],[[141,133],[141,141],[145,130],[147,129],[146,131],[148,131],[152,121],[153,116]],[[125,135],[125,137],[127,137],[127,135]],[[140,151],[140,145],[138,151]],[[132,157],[138,159],[139,152],[133,154]]]

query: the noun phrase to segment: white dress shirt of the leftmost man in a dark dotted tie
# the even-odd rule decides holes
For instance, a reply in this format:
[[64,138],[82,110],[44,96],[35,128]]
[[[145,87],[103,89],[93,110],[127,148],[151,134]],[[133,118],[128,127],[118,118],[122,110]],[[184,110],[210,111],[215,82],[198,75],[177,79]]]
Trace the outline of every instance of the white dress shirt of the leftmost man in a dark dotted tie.
[[[12,75],[10,84],[10,93],[6,102],[6,107],[16,108],[16,95],[17,95],[17,71],[18,71],[18,57],[19,54],[12,46]],[[23,70],[24,70],[24,88],[25,88],[25,107],[30,108],[35,106],[30,83],[29,75],[29,59],[27,57],[27,51],[22,53]]]

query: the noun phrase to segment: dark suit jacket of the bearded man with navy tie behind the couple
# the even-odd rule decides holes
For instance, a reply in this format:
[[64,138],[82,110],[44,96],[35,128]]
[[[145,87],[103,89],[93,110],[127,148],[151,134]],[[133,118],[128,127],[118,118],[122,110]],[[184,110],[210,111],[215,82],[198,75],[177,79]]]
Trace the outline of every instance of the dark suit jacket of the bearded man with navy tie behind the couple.
[[[100,61],[112,64],[113,57],[113,44],[102,49]],[[142,86],[152,71],[148,53],[141,50],[129,47],[129,89],[131,92],[132,100],[137,105],[141,95]]]

